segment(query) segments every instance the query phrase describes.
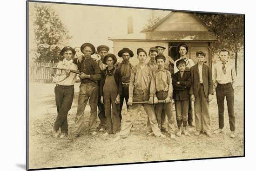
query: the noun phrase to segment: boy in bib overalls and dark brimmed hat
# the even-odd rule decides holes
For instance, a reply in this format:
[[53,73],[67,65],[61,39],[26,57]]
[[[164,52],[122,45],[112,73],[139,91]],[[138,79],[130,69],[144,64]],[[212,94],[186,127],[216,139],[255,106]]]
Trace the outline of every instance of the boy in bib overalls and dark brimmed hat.
[[122,87],[120,70],[114,66],[116,61],[115,55],[111,53],[107,53],[102,61],[108,65],[105,70],[101,71],[100,85],[101,104],[104,104],[107,120],[107,132],[104,134],[105,136],[111,133],[119,133],[121,127],[119,110]]

